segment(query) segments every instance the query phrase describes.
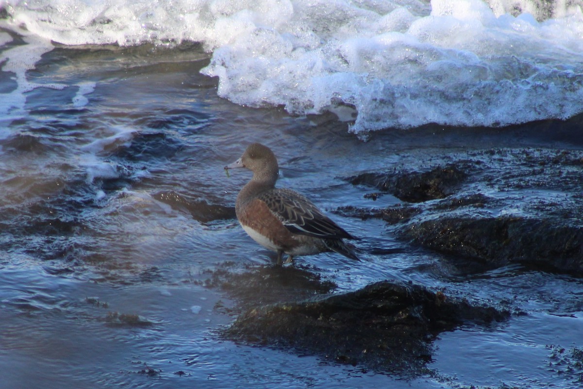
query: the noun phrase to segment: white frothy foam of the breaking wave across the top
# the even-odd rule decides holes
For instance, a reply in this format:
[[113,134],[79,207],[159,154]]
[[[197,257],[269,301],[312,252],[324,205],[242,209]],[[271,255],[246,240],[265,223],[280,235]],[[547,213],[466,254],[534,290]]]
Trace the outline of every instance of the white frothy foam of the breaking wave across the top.
[[[581,113],[581,4],[10,0],[1,25],[42,39],[41,48],[27,49],[37,54],[50,50],[48,40],[199,41],[213,53],[203,73],[219,77],[220,96],[296,115],[335,111],[356,117],[351,128],[359,132],[430,122],[500,126]],[[16,71],[6,68],[13,55],[2,55],[9,58],[3,71]],[[34,64],[30,59],[23,69]],[[79,89],[75,107],[87,103],[93,87]],[[13,106],[0,112],[22,108],[22,96],[12,97]]]

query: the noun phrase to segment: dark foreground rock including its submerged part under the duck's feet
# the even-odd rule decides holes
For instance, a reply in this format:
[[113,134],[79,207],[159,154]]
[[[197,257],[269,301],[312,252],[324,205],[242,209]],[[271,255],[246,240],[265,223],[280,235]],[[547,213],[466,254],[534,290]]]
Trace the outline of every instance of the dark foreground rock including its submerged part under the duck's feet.
[[210,272],[205,283],[238,302],[231,311],[237,320],[223,337],[405,376],[427,372],[439,332],[510,317],[507,309],[413,283],[383,281],[334,293],[336,285],[301,265],[231,270]]

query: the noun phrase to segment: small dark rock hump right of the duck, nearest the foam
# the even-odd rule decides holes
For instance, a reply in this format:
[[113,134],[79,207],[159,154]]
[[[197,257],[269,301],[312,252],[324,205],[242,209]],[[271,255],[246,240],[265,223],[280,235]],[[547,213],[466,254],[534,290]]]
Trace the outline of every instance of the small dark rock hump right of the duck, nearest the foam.
[[402,201],[423,202],[454,194],[467,176],[455,164],[450,164],[424,173],[363,173],[348,178],[348,181],[387,191]]

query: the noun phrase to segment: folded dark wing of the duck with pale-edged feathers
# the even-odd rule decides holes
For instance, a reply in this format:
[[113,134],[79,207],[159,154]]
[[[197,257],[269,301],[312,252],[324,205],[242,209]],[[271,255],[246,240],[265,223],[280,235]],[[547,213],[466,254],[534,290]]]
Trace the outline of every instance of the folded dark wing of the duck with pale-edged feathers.
[[298,192],[272,189],[259,195],[258,199],[264,201],[269,211],[293,233],[323,239],[356,239]]

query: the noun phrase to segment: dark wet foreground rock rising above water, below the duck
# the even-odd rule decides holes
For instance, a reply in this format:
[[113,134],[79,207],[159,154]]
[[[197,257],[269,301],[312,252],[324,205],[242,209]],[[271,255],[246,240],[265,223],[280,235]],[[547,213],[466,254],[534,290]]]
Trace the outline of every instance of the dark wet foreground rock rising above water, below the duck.
[[430,341],[438,332],[466,321],[484,324],[509,315],[423,286],[378,282],[356,292],[250,309],[224,335],[416,375],[431,360]]

